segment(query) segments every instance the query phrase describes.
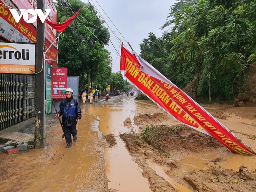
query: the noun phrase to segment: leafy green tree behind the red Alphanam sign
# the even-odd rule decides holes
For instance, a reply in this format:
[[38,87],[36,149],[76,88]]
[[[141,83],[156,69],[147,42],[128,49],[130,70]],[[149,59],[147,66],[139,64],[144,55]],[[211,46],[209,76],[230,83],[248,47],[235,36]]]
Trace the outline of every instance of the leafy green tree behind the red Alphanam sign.
[[110,34],[102,25],[103,21],[97,16],[93,6],[80,0],[58,0],[56,8],[60,22],[67,20],[81,8],[78,16],[60,36],[59,66],[67,67],[68,75],[79,76],[80,89],[84,88],[86,77],[103,88],[106,82],[102,79],[110,74],[109,65],[112,61],[110,52],[104,48]]

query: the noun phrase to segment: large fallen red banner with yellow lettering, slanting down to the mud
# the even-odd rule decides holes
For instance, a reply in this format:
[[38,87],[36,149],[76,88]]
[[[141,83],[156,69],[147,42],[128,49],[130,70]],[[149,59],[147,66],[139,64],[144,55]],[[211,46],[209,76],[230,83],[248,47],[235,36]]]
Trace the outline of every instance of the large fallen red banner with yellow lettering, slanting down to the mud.
[[256,154],[228,128],[180,90],[148,62],[122,47],[120,70],[136,88],[179,122],[216,138],[235,153]]

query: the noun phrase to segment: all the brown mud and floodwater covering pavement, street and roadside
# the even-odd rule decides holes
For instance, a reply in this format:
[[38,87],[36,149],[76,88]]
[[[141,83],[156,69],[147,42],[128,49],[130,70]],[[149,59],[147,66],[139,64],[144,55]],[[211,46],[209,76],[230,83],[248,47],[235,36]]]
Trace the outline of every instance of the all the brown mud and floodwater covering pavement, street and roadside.
[[[65,148],[58,119],[51,114],[46,122],[46,148],[0,153],[0,191],[256,189],[256,156],[234,154],[215,139],[180,126],[152,101],[120,95],[80,106],[78,140],[72,147]],[[203,107],[256,151],[256,107]],[[164,132],[157,131],[161,140],[149,145],[140,135],[146,125],[180,127],[166,141]],[[115,144],[106,145],[106,136],[112,136]]]

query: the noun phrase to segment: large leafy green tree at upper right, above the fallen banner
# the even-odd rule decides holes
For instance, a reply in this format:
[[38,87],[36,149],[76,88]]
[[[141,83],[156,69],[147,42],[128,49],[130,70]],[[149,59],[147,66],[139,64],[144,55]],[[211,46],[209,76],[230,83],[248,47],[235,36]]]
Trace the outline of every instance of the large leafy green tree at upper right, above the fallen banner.
[[180,0],[172,6],[162,26],[174,24],[162,37],[172,82],[182,88],[196,76],[199,96],[212,91],[215,98],[234,98],[256,59],[255,11],[251,0]]

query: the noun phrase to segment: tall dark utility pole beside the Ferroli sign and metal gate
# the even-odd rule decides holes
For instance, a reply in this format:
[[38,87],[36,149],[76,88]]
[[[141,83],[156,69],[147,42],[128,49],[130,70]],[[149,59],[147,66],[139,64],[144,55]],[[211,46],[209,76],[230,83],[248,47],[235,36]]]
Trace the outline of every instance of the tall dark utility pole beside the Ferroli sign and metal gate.
[[[37,0],[37,8],[44,12],[44,0]],[[45,146],[45,82],[44,82],[44,24],[37,22],[37,40],[36,40],[36,116],[35,116],[35,148],[44,148]],[[38,73],[39,72],[39,73]]]

